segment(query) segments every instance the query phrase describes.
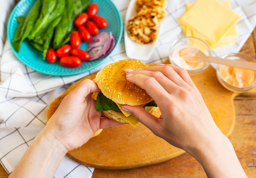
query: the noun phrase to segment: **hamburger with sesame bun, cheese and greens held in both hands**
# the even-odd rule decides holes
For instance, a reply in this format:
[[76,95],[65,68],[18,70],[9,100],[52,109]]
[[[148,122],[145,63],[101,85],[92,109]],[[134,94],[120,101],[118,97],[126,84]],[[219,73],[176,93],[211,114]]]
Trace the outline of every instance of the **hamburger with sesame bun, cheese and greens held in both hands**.
[[136,127],[139,121],[130,113],[120,110],[121,106],[139,105],[148,112],[153,112],[157,105],[144,89],[126,80],[125,69],[146,67],[148,64],[141,61],[126,59],[109,64],[100,70],[95,77],[95,83],[101,92],[92,94],[92,98],[96,100],[96,110],[102,111],[112,120]]

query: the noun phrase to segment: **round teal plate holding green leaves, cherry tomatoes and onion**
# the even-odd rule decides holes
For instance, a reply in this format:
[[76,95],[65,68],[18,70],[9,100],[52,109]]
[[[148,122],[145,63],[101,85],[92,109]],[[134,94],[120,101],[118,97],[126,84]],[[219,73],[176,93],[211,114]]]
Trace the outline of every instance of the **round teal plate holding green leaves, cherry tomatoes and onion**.
[[[7,25],[7,36],[11,45],[13,35],[18,27],[17,16],[26,16],[29,13],[29,10],[34,5],[36,0],[21,0],[16,7],[11,12],[9,22]],[[116,44],[115,47],[119,44],[123,31],[123,22],[121,15],[115,4],[111,0],[92,0],[91,2],[96,2],[99,6],[98,15],[103,16],[108,21],[108,27],[102,29],[106,32],[112,32],[112,35],[115,37]],[[111,53],[103,59],[94,60],[91,62],[82,62],[81,66],[77,68],[68,68],[61,66],[59,62],[51,64],[47,60],[43,60],[42,52],[35,49],[29,44],[28,40],[24,40],[20,46],[20,52],[17,53],[11,46],[13,53],[16,57],[26,66],[30,67],[33,70],[36,70],[39,73],[47,75],[58,75],[58,76],[68,76],[76,75],[80,73],[87,72],[93,68],[99,66],[103,63]],[[86,48],[86,43],[83,42],[80,48]],[[113,51],[115,48],[113,49]]]

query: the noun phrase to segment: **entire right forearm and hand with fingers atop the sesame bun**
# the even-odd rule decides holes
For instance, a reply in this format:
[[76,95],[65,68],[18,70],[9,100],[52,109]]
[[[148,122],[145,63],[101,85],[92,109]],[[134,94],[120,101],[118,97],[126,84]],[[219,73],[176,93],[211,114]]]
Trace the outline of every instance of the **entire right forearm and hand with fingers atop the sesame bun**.
[[186,70],[159,64],[126,70],[128,81],[144,88],[162,115],[157,118],[141,107],[124,105],[157,136],[184,149],[204,168],[208,177],[246,177],[229,139],[222,134]]

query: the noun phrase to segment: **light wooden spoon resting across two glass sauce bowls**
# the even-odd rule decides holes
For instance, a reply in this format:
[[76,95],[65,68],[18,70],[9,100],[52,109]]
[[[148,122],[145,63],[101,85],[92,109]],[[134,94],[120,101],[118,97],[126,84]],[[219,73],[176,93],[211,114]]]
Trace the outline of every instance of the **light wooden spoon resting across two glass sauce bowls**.
[[206,56],[202,51],[198,49],[192,49],[191,51],[191,48],[190,48],[188,49],[190,51],[185,51],[185,50],[182,52],[185,55],[183,55],[183,57],[181,53],[180,55],[186,62],[189,62],[189,63],[212,62],[216,64],[223,64],[227,66],[256,70],[256,62],[248,62],[243,60],[231,60],[231,59],[223,59],[220,57]]

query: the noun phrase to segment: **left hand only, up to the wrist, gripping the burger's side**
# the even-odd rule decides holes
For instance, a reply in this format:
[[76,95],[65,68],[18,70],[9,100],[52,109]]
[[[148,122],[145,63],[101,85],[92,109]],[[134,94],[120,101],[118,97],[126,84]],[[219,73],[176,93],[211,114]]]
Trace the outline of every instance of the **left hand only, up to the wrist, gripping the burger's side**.
[[120,125],[95,110],[91,93],[99,91],[97,84],[85,79],[67,94],[44,128],[49,140],[57,139],[69,151],[86,143],[97,130]]

